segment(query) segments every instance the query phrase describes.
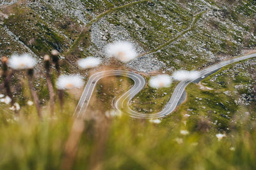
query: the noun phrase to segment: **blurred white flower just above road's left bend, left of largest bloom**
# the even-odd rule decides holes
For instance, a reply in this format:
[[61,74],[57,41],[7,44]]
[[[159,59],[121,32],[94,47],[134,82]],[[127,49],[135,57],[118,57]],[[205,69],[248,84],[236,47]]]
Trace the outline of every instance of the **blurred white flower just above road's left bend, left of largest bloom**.
[[90,69],[97,67],[100,64],[100,59],[95,57],[87,57],[86,59],[77,60],[80,69]]

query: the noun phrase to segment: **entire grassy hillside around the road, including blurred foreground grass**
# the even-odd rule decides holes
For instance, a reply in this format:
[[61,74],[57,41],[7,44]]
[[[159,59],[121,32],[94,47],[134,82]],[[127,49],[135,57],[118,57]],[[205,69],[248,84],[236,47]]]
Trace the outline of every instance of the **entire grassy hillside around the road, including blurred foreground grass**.
[[[38,59],[32,84],[43,118],[28,104],[26,73],[15,72],[10,85],[21,108],[0,103],[0,169],[255,169],[256,59],[189,84],[186,101],[154,122],[113,110],[111,104],[133,85],[122,76],[97,83],[84,120],[72,117],[83,89],[63,92],[62,105],[54,85],[51,115],[42,67],[42,56],[56,49],[61,73],[84,80],[111,68],[136,71],[146,80],[177,69],[200,70],[254,50],[255,15],[253,0],[1,1],[0,56],[26,52]],[[138,57],[127,64],[107,59],[105,46],[118,40],[131,41]],[[107,67],[79,71],[76,60],[90,55]],[[58,71],[51,70],[55,83]],[[146,85],[131,108],[160,111],[177,83],[164,89]]]

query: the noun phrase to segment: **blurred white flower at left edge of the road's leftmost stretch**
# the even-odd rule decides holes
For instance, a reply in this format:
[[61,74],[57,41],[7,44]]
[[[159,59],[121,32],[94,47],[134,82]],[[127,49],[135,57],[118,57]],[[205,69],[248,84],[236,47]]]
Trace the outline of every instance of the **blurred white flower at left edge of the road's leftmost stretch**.
[[84,81],[77,75],[61,75],[56,82],[58,89],[73,89],[81,88],[84,85]]

